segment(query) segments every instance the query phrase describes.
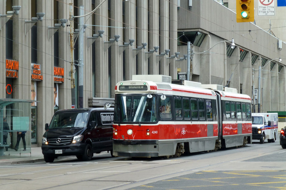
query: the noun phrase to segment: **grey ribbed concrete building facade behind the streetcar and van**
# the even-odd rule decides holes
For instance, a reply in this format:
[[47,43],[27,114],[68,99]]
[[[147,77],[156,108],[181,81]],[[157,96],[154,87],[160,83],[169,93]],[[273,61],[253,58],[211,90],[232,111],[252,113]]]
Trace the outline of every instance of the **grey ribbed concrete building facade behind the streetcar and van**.
[[[13,10],[12,6],[21,9],[11,18],[1,16],[0,99],[31,100],[36,96],[31,108],[32,144],[41,146],[44,125],[54,111],[72,107],[71,22],[74,29],[83,28],[78,27],[79,18],[69,19],[69,3],[74,16],[79,15],[79,6],[88,14],[100,5],[83,17],[83,66],[77,64],[79,40],[74,31],[75,107],[80,77],[83,107],[93,106],[89,100],[94,97],[113,98],[116,82],[130,80],[134,74],[177,79],[177,72],[187,71],[187,61],[180,57],[187,54],[186,42],[190,41],[192,81],[228,86],[252,96],[253,84],[257,89],[260,80],[260,111],[286,109],[285,44],[279,50],[276,37],[253,23],[236,23],[235,12],[214,0],[193,0],[191,6],[182,0],[6,0],[0,4],[0,14]],[[37,13],[45,14],[39,19]],[[55,27],[60,19],[67,19],[66,27]],[[104,30],[102,37],[97,35],[99,30]],[[115,35],[120,35],[118,42]],[[229,42],[232,38],[234,49]],[[180,52],[178,57],[175,52]],[[7,68],[7,60],[18,61],[18,70]],[[83,67],[83,75],[79,67]],[[7,76],[7,71],[17,71],[18,77]],[[256,104],[253,108],[257,112]]]

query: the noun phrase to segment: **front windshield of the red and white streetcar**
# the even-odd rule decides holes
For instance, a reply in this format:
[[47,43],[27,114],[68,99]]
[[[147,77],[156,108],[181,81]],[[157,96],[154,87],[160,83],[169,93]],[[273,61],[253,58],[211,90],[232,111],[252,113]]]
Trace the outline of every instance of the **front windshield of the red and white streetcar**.
[[114,122],[156,122],[156,97],[117,96],[114,111]]

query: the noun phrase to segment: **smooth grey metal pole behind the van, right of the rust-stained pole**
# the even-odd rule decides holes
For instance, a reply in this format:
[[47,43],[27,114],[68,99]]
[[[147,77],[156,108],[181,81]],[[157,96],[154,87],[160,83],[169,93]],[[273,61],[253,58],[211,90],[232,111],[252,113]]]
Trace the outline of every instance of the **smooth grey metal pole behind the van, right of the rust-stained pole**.
[[83,108],[83,10],[84,6],[79,6],[78,18],[78,107]]

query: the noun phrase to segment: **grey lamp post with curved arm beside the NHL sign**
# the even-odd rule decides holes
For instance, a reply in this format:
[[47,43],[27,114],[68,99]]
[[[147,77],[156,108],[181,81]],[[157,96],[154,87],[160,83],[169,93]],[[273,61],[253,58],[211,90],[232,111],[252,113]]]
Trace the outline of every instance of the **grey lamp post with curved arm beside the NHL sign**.
[[[235,48],[235,43],[234,43],[234,39],[232,38],[232,40],[224,40],[221,42],[231,42],[231,48]],[[193,61],[193,56],[194,54],[201,54],[201,53],[205,53],[207,51],[209,51],[210,49],[212,49],[214,46],[216,46],[217,44],[221,43],[221,42],[217,42],[215,45],[213,45],[211,48],[209,48],[208,50],[205,50],[203,52],[200,53],[194,53],[193,51],[193,44],[191,44],[191,42],[188,42],[187,45],[187,52],[188,52],[188,59],[187,59],[187,80],[191,81],[192,80],[192,74],[193,74],[193,66],[192,66],[192,61]],[[190,55],[189,55],[190,54]],[[189,58],[190,57],[190,58]]]

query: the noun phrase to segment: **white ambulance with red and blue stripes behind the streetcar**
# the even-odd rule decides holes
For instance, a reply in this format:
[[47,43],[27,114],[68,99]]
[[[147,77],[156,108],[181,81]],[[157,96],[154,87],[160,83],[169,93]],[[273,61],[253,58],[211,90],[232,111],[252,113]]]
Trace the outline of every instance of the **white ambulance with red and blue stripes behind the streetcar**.
[[252,113],[252,140],[275,142],[278,135],[278,113]]

